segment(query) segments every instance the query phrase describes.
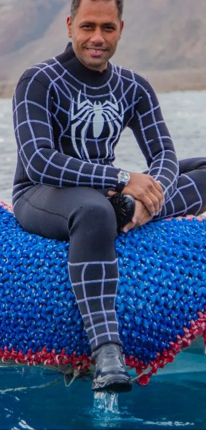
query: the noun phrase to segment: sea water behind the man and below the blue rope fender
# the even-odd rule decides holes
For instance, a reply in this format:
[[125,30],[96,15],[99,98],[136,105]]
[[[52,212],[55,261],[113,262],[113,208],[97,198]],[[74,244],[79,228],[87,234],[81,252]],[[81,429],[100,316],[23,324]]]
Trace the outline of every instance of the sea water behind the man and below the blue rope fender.
[[[206,156],[206,92],[160,94],[179,159]],[[16,164],[11,100],[0,99],[0,200],[11,202]],[[141,172],[144,157],[128,130],[116,151],[116,166]],[[148,386],[134,384],[118,405],[101,408],[91,380],[70,387],[54,371],[0,367],[0,430],[8,429],[206,429],[206,357],[203,342],[179,354]],[[119,409],[118,409],[119,407]]]

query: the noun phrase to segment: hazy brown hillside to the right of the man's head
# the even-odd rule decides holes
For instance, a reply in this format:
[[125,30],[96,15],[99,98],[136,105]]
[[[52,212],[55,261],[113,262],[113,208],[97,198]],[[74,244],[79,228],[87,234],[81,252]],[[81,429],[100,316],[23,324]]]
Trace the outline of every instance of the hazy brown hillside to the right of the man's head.
[[[122,51],[141,70],[206,66],[205,0],[126,0]],[[133,55],[132,55],[133,53]]]

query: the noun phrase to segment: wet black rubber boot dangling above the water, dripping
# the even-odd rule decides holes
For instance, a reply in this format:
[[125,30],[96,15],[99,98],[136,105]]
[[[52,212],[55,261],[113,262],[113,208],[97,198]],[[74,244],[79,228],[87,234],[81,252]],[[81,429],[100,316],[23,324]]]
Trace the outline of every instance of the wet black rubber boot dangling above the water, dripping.
[[97,367],[93,380],[93,391],[121,393],[131,391],[132,383],[125,370],[122,348],[116,343],[101,345],[91,354]]

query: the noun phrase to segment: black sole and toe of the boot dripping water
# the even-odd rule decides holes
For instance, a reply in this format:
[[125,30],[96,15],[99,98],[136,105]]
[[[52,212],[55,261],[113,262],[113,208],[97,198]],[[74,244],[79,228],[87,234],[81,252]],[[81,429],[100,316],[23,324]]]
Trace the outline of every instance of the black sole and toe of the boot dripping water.
[[132,390],[132,383],[128,378],[107,375],[101,381],[98,381],[98,379],[94,380],[92,390],[96,392],[126,393]]

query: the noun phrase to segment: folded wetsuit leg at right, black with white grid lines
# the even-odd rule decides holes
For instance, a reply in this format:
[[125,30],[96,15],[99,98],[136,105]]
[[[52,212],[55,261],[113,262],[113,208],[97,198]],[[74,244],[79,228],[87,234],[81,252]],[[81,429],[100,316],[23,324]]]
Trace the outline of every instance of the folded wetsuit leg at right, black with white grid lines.
[[[148,172],[144,172],[148,173]],[[179,179],[162,212],[153,220],[168,216],[198,215],[206,211],[206,157],[179,161]]]

